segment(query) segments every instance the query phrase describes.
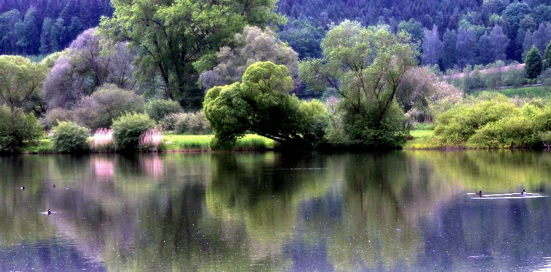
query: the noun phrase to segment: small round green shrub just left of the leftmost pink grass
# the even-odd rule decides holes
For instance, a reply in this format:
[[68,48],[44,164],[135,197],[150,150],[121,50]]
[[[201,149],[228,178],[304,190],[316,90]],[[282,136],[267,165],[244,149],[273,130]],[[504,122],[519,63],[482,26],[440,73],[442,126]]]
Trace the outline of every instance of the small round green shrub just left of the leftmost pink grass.
[[71,121],[61,121],[52,129],[51,136],[54,151],[62,153],[82,153],[90,149],[88,129]]

